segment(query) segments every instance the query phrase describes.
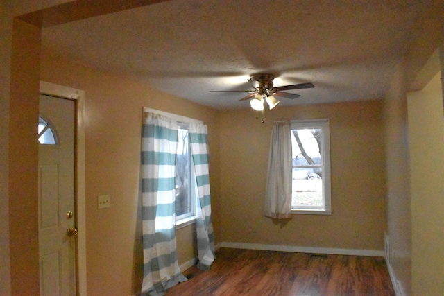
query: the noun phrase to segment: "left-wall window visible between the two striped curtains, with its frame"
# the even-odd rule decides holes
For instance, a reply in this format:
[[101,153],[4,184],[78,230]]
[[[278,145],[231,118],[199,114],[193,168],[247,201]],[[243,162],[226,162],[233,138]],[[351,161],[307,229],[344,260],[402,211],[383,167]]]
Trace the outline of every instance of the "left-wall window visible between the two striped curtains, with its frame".
[[194,182],[194,170],[191,170],[191,147],[189,146],[189,134],[186,124],[179,123],[178,136],[178,150],[176,154],[176,222],[194,217],[196,213],[196,198],[193,198],[196,193],[194,190],[196,182]]

